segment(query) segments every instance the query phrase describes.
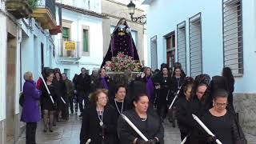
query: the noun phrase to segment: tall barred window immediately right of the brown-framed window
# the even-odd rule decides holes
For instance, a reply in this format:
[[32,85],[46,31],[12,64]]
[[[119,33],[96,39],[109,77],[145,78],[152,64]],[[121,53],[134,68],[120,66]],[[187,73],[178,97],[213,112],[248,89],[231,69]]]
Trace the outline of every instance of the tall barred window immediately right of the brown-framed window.
[[177,58],[186,73],[186,22],[177,25]]

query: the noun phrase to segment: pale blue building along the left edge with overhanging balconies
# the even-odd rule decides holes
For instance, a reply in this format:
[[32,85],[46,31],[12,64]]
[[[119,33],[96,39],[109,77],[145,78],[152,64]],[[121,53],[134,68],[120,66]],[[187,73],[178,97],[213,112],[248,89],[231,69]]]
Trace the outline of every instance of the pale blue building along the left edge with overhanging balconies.
[[41,68],[50,67],[53,62],[50,54],[54,48],[51,30],[56,29],[54,5],[54,0],[42,0],[32,10],[26,1],[0,2],[1,144],[14,143],[25,130],[18,102],[23,74],[30,71],[37,80]]

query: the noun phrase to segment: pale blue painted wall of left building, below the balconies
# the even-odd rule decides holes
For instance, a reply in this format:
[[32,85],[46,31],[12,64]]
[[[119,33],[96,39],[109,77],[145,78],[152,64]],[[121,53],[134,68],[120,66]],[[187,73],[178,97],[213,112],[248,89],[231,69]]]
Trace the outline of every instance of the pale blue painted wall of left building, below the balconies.
[[[29,23],[28,20],[25,20]],[[46,30],[42,30],[35,25],[34,19],[32,19],[32,30],[28,29],[22,21],[22,77],[26,71],[33,73],[34,81],[39,78],[38,70],[41,70],[41,43],[44,45],[44,64],[45,67],[51,67],[50,64],[54,62],[54,58],[50,56],[52,54],[53,43],[50,42],[49,33]],[[19,74],[19,71],[18,71]],[[22,86],[24,83],[22,78]],[[19,82],[18,82],[19,87]]]

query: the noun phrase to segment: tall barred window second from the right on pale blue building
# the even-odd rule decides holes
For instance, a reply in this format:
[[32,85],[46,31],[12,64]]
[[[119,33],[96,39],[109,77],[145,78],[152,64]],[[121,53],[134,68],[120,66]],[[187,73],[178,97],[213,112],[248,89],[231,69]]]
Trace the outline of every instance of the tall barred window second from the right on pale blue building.
[[201,13],[190,18],[190,76],[202,74]]

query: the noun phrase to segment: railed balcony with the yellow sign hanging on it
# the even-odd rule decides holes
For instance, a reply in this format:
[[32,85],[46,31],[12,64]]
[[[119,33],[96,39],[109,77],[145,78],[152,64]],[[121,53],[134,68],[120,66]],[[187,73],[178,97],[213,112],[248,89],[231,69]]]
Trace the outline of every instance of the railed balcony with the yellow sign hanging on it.
[[58,40],[58,60],[61,62],[78,62],[82,57],[82,43]]

